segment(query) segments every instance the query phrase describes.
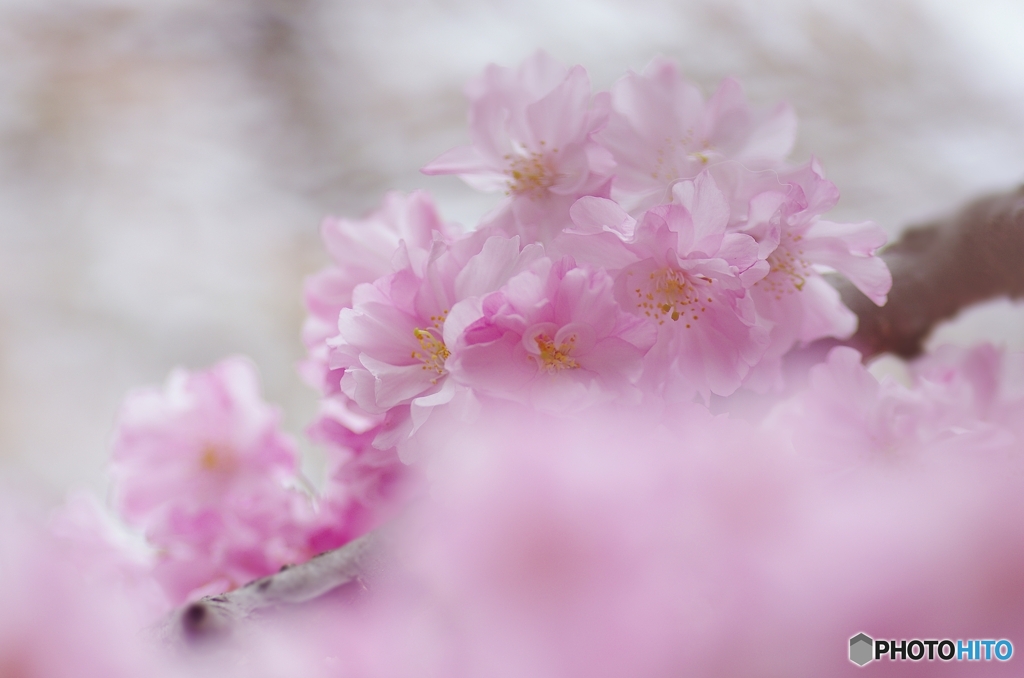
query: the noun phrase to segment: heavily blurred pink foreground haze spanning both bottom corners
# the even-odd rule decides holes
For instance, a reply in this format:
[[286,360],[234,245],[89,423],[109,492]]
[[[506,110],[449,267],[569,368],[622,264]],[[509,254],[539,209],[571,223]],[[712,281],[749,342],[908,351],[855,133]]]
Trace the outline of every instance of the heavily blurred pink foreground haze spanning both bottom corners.
[[[550,416],[487,400],[472,422],[422,429],[429,493],[388,525],[368,590],[188,651],[156,642],[133,561],[89,548],[88,507],[51,521],[54,538],[4,502],[0,669],[810,678],[860,675],[846,651],[861,631],[1019,645],[1022,365],[990,346],[942,351],[904,388],[838,348],[757,425],[699,405]],[[850,429],[867,435],[827,454]],[[1017,661],[866,670],[1010,676]]]

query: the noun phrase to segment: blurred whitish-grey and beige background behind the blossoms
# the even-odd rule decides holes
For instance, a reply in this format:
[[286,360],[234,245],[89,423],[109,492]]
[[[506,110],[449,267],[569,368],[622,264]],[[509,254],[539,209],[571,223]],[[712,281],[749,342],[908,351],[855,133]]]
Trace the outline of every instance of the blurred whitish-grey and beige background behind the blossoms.
[[[418,170],[467,141],[487,62],[738,76],[796,108],[833,218],[897,235],[1024,179],[1021,26],[1014,0],[0,0],[0,477],[102,492],[128,389],[232,353],[300,433],[321,219],[426,187],[471,225],[493,197]],[[1024,313],[939,335],[1024,348]]]

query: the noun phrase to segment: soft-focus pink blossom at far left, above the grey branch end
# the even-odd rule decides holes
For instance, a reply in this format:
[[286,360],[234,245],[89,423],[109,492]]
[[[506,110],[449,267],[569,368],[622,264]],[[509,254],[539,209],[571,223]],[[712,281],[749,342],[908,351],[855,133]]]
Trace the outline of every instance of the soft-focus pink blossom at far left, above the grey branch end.
[[112,471],[116,506],[160,556],[173,601],[220,592],[304,560],[296,521],[305,497],[296,452],[263,402],[253,366],[228,358],[174,372],[164,389],[129,395]]

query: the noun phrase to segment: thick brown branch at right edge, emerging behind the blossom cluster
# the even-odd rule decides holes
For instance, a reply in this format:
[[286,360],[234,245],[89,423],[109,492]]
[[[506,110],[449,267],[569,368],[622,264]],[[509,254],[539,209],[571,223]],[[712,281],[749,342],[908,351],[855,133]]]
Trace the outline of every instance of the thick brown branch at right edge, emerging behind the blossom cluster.
[[913,357],[932,330],[962,309],[1024,296],[1024,186],[910,227],[881,256],[893,273],[885,306],[876,306],[845,280],[833,281],[860,319],[856,334],[844,343],[864,357],[884,352]]

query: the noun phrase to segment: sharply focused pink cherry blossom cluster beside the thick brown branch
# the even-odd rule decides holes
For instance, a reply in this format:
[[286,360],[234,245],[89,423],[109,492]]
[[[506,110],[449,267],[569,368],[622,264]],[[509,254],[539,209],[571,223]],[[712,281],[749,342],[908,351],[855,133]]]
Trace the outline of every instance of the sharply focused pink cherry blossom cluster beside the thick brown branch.
[[877,225],[822,214],[839,192],[790,165],[796,121],[727,80],[705,100],[655,60],[593,94],[539,53],[467,89],[471,145],[429,163],[505,200],[468,232],[429,197],[331,220],[335,265],[307,287],[307,375],[416,457],[437,409],[644,408],[781,386],[781,356],[856,319],[822,277],[876,303],[891,278]]

